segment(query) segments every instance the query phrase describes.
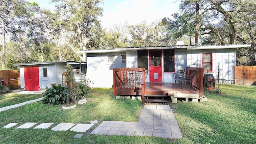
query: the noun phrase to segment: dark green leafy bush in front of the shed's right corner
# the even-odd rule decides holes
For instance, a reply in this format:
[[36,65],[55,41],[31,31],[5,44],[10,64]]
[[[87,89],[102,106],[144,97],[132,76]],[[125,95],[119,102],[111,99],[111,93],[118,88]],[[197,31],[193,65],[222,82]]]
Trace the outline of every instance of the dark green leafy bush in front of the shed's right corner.
[[66,88],[62,87],[61,84],[58,86],[52,85],[50,88],[46,86],[46,91],[43,94],[44,98],[42,100],[45,103],[64,104],[66,102]]

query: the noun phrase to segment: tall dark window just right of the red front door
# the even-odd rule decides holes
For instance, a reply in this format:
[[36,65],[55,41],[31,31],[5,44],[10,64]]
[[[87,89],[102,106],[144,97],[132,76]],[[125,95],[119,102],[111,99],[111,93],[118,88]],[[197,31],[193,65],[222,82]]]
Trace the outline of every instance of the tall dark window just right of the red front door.
[[174,49],[164,50],[164,72],[174,72]]

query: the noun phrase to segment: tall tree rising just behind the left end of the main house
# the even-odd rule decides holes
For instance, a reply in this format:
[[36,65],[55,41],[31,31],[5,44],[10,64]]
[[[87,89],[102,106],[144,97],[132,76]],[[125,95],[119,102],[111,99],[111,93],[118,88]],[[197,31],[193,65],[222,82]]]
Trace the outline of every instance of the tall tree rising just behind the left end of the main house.
[[[66,44],[77,45],[80,50],[97,49],[102,32],[99,16],[102,8],[98,7],[101,0],[52,0],[56,2],[56,12],[59,14],[61,26],[70,32],[68,39],[62,39]],[[54,34],[53,34],[54,35]],[[56,35],[54,35],[56,36]],[[56,38],[60,38],[56,36]],[[83,56],[85,60],[85,55]]]

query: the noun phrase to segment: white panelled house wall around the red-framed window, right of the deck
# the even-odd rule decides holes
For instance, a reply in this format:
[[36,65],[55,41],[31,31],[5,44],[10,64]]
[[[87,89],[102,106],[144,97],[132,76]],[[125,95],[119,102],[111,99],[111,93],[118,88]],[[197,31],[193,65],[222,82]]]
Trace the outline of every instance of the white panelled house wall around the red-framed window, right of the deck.
[[236,49],[208,49],[208,50],[187,50],[187,66],[202,67],[202,53],[212,53],[212,72],[214,78],[218,76],[218,64],[220,63],[219,78],[232,79],[234,66],[236,65]]

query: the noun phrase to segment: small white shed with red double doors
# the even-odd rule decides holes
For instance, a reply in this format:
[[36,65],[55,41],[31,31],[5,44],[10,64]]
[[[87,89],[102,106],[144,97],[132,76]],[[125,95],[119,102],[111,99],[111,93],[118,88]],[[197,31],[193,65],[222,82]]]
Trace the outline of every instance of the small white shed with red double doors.
[[74,67],[76,81],[82,81],[86,74],[86,62],[62,61],[62,62],[32,62],[14,64],[20,66],[20,88],[26,91],[40,91],[52,84],[63,84],[63,74],[66,71],[63,66],[70,64]]

